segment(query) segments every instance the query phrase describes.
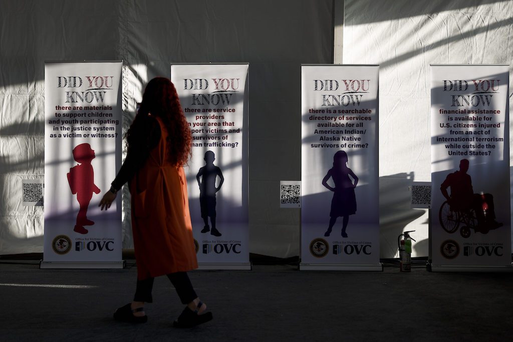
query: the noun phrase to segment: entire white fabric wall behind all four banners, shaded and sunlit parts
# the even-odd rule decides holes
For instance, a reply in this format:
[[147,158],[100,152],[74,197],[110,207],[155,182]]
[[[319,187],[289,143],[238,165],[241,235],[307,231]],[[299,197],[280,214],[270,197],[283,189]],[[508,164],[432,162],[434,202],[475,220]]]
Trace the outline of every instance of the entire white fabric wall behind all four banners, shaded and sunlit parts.
[[125,130],[169,63],[250,64],[250,251],[298,255],[299,210],[278,196],[301,177],[300,65],[332,63],[336,47],[336,63],[381,66],[381,257],[414,229],[426,256],[427,212],[409,209],[408,186],[430,179],[429,64],[513,65],[512,14],[494,0],[0,0],[0,255],[43,251],[43,208],[21,191],[44,177],[44,61],[121,59]]

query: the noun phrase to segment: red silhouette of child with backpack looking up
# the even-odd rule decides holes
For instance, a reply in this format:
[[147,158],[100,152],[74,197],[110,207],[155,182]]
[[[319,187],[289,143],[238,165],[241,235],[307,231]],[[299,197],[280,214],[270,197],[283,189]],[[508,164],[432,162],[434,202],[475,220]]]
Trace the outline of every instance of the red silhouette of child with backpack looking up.
[[84,226],[94,225],[93,221],[87,219],[87,208],[93,197],[93,192],[100,193],[100,188],[94,185],[94,171],[91,165],[94,151],[89,144],[80,144],[73,149],[73,159],[80,163],[80,165],[72,167],[68,173],[71,193],[76,194],[76,199],[80,204],[80,210],[76,215],[76,226],[73,230],[77,233],[87,234],[88,230]]

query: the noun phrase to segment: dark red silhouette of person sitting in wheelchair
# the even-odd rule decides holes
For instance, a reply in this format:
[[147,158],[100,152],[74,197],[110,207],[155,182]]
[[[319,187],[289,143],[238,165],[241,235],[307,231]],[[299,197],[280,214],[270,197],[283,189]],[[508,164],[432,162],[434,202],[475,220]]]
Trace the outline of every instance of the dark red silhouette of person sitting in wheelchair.
[[440,186],[447,199],[440,207],[440,224],[449,233],[455,232],[462,224],[460,233],[463,237],[470,236],[470,228],[486,234],[490,229],[502,226],[495,220],[494,197],[489,193],[473,192],[468,166],[468,160],[461,159],[460,170],[449,173]]

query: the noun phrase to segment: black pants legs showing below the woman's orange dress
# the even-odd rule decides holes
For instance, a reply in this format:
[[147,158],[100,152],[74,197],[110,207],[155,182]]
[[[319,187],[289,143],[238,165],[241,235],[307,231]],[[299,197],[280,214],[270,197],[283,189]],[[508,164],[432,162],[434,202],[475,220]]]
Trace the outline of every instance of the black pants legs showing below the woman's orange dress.
[[[187,272],[176,272],[167,274],[171,284],[176,289],[176,293],[180,297],[182,304],[188,304],[192,300],[198,298],[196,292],[192,288],[191,281]],[[151,290],[153,289],[153,279],[146,278],[144,280],[137,279],[137,287],[135,289],[135,295],[133,301],[144,301],[145,303],[153,303],[151,296]]]

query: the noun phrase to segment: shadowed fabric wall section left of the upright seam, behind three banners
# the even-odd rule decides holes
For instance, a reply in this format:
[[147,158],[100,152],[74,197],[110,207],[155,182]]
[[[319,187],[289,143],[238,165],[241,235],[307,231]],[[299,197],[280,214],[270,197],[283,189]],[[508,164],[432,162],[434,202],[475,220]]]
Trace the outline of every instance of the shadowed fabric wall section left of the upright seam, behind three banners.
[[170,63],[249,63],[250,251],[298,255],[279,185],[301,177],[300,66],[332,63],[332,23],[331,0],[0,0],[0,254],[43,251],[43,208],[21,192],[44,177],[44,61],[123,59],[124,131]]

